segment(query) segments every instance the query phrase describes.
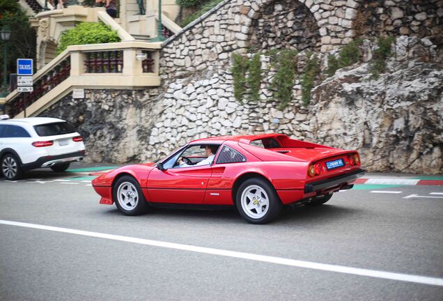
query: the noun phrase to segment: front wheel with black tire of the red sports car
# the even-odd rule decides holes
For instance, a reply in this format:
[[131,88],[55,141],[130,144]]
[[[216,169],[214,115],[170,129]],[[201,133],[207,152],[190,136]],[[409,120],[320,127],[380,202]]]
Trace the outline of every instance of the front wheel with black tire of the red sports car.
[[[119,193],[120,197],[118,196]],[[137,199],[134,198],[136,194]],[[149,208],[139,183],[131,176],[123,176],[114,183],[112,196],[118,210],[124,215],[141,215],[146,213]]]

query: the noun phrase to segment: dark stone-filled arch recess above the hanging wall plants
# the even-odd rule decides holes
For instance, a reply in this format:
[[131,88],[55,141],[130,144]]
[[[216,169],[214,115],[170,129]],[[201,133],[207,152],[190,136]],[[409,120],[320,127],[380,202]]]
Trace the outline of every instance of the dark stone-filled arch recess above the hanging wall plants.
[[320,47],[318,20],[300,1],[265,1],[252,19],[249,47],[254,50]]

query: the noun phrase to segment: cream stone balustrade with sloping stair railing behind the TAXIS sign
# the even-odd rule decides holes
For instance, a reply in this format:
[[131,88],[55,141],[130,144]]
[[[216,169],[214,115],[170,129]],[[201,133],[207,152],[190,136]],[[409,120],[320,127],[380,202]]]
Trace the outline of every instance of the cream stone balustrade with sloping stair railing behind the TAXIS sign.
[[159,52],[160,43],[137,41],[69,46],[33,76],[33,92],[16,90],[8,95],[6,112],[10,116],[33,116],[75,87],[160,86]]

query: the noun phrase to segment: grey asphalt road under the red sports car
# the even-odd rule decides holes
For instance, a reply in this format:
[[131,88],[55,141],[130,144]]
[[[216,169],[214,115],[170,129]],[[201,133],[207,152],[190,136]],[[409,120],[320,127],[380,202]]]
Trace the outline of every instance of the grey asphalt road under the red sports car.
[[[2,301],[443,300],[442,285],[414,281],[443,281],[441,186],[360,185],[318,208],[286,208],[272,224],[251,225],[234,210],[126,217],[98,203],[85,174],[31,177],[0,179]],[[358,272],[367,270],[407,281]]]

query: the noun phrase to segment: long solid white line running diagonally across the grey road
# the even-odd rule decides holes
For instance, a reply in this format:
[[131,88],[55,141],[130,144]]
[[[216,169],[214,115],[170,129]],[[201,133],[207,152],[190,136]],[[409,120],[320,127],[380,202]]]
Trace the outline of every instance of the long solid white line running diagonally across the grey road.
[[407,282],[414,282],[418,284],[428,284],[428,285],[434,285],[434,286],[443,286],[443,278],[435,278],[435,277],[425,277],[425,276],[419,276],[419,275],[407,275],[407,274],[401,274],[396,272],[384,272],[384,271],[378,271],[378,270],[366,270],[363,268],[350,268],[345,267],[343,265],[330,265],[325,263],[314,263],[311,261],[300,261],[295,259],[289,259],[289,258],[281,258],[281,257],[273,257],[273,256],[265,256],[265,255],[258,255],[258,254],[251,254],[251,253],[244,253],[244,252],[235,252],[235,251],[228,251],[224,249],[213,249],[208,247],[198,247],[193,245],[182,245],[178,243],[173,242],[162,242],[159,240],[146,240],[143,238],[132,238],[127,236],[116,236],[112,234],[106,234],[106,233],[98,233],[98,232],[91,232],[91,231],[82,231],[82,230],[76,230],[76,229],[68,229],[68,228],[59,228],[54,226],[44,226],[40,224],[28,224],[23,222],[12,222],[0,219],[0,224],[6,224],[10,226],[20,226],[24,228],[31,228],[31,229],[40,229],[40,230],[47,230],[47,231],[54,231],[54,232],[61,232],[61,233],[70,233],[70,234],[76,234],[80,236],[89,236],[89,237],[95,237],[95,238],[104,238],[109,240],[118,240],[122,242],[132,242],[139,245],[149,245],[153,247],[164,247],[168,249],[178,249],[182,251],[189,251],[189,252],[197,252],[202,254],[212,254],[212,255],[218,255],[218,256],[226,256],[226,257],[233,257],[233,258],[242,258],[247,259],[251,261],[261,261],[266,263],[275,263],[279,265],[289,265],[297,268],[309,268],[313,270],[324,270],[328,272],[341,272],[345,274],[350,275],[359,275],[359,276],[367,276],[367,277],[374,277],[374,278],[381,278],[381,279],[391,279],[391,280],[398,280],[398,281],[407,281]]

